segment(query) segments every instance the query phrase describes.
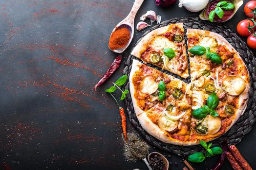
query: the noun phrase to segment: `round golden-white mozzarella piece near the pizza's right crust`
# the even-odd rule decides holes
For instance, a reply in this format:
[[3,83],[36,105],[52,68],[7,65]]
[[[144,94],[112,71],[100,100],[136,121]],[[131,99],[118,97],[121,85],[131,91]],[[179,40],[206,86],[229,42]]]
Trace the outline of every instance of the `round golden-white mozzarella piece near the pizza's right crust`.
[[238,96],[244,91],[246,82],[242,77],[228,76],[223,79],[223,85],[226,87],[226,91],[229,95]]

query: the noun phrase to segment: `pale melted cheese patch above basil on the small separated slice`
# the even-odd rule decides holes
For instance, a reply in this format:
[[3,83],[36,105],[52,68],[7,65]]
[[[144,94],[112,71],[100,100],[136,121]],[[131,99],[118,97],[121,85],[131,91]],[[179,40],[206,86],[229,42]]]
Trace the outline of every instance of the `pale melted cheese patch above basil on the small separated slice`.
[[153,39],[151,42],[152,47],[159,51],[159,50],[164,50],[164,49],[173,49],[175,47],[174,42],[171,42],[168,38],[164,36],[159,36]]

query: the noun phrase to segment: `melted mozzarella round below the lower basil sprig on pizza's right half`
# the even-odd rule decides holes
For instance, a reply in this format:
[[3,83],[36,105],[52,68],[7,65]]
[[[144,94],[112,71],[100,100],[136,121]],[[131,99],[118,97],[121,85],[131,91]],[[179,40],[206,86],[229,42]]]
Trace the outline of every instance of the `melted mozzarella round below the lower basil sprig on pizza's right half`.
[[213,117],[207,115],[207,117],[201,123],[203,126],[208,128],[208,134],[216,134],[221,128],[221,119],[219,117]]

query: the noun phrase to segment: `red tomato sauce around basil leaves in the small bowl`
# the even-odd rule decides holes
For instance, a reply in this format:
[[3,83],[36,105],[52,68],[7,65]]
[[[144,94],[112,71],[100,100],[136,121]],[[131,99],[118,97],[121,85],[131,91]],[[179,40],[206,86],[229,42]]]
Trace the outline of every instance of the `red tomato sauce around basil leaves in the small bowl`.
[[[209,7],[208,7],[208,9],[207,9],[207,17],[209,17],[210,12],[215,9],[215,6],[217,5],[217,3],[218,3],[219,1],[221,1],[221,0],[214,0],[213,2],[210,3],[210,5],[209,5]],[[227,2],[230,2],[230,1],[227,0]],[[231,2],[230,2],[230,3],[231,3]],[[232,9],[232,10],[224,10],[224,9],[223,9],[223,11],[224,11],[224,16],[220,19],[220,18],[215,14],[215,16],[214,16],[214,18],[213,18],[213,21],[221,22],[221,21],[226,21],[226,20],[228,20],[228,19],[231,17],[231,15],[234,13],[234,10],[235,10],[235,8]]]

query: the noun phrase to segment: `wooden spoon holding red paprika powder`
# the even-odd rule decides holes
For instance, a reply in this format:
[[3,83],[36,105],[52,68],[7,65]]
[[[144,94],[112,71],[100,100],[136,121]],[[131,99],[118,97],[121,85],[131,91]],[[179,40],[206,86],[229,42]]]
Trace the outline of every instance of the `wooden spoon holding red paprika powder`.
[[[108,46],[108,48],[109,48],[111,51],[114,51],[114,52],[116,52],[116,53],[122,53],[123,51],[125,51],[125,50],[128,48],[128,46],[129,46],[129,44],[130,44],[130,42],[131,42],[131,40],[132,40],[133,34],[134,34],[134,18],[135,18],[135,16],[136,16],[136,14],[137,14],[137,12],[138,12],[138,10],[139,10],[141,4],[143,3],[143,1],[144,1],[144,0],[135,0],[135,2],[134,2],[134,4],[133,4],[133,6],[132,6],[132,8],[131,8],[131,11],[130,11],[130,13],[128,14],[128,16],[127,16],[124,20],[122,20],[121,22],[119,22],[119,23],[115,26],[115,28],[113,29],[113,31],[112,31],[112,33],[111,33],[111,35],[112,35],[113,32],[116,31],[117,29],[120,29],[120,28],[127,28],[127,29],[129,30],[129,32],[130,32],[130,39],[129,39],[127,45],[126,45],[124,48],[116,49],[116,50],[111,50],[111,49],[109,48],[109,46]],[[110,36],[111,36],[111,35],[110,35]]]

